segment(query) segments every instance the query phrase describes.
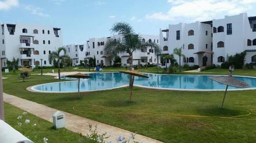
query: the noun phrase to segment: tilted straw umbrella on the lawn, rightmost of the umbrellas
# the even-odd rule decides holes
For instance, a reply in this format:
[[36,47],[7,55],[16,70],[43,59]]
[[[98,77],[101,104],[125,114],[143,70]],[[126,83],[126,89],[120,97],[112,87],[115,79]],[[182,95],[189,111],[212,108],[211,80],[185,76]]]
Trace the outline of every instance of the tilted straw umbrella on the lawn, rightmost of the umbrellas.
[[223,104],[224,104],[224,101],[225,101],[225,98],[226,98],[226,93],[227,93],[228,86],[237,87],[237,88],[249,88],[250,87],[250,85],[248,83],[246,83],[244,81],[241,81],[241,80],[238,80],[238,79],[234,78],[231,75],[229,75],[229,76],[210,76],[209,78],[212,79],[212,80],[215,80],[217,82],[226,84],[226,90],[225,90],[225,93],[224,93],[221,108],[223,107]]

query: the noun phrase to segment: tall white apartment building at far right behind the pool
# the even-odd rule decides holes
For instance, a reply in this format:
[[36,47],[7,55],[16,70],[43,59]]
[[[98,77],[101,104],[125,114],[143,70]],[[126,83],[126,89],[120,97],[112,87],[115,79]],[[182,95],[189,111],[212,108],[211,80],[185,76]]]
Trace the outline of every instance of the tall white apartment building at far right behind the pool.
[[[160,29],[160,47],[163,54],[182,47],[186,56],[182,65],[221,65],[227,56],[242,51],[247,52],[246,63],[255,63],[256,17],[242,13],[211,21],[170,24],[166,30]],[[178,61],[177,55],[175,58]]]

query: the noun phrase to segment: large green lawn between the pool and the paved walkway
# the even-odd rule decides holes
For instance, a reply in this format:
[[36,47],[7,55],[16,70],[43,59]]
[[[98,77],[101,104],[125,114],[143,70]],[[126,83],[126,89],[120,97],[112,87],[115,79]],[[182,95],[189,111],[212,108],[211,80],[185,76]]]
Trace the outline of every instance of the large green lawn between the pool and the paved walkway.
[[[218,73],[216,72],[216,74]],[[241,75],[243,74],[241,73]],[[122,129],[138,132],[163,142],[256,142],[256,120],[131,114],[113,115],[84,113],[73,110],[73,106],[80,105],[77,109],[91,112],[142,112],[97,106],[100,105],[159,113],[169,112],[184,115],[229,117],[245,115],[247,110],[256,109],[255,91],[228,92],[224,109],[220,109],[224,92],[187,92],[135,88],[133,102],[128,103],[127,100],[130,93],[128,88],[87,92],[82,93],[82,97],[78,98],[77,93],[32,93],[26,90],[30,85],[58,81],[52,76],[32,75],[25,82],[18,80],[17,74],[9,74],[6,77],[8,78],[3,79],[4,92],[8,94]],[[15,87],[15,90],[13,90],[13,87]],[[256,119],[256,112],[252,112],[248,117],[241,118]]]

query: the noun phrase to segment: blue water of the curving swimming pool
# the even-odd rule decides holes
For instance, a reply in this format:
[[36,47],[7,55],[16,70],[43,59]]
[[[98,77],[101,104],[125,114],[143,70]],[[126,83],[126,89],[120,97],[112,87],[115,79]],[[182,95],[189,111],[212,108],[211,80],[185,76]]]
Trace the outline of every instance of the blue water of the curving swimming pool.
[[[130,75],[123,73],[90,73],[92,78],[80,80],[80,91],[107,90],[129,84]],[[226,85],[209,79],[209,75],[160,75],[146,74],[149,78],[135,77],[134,84],[149,88],[176,90],[225,90]],[[64,77],[65,78],[65,77]],[[256,78],[236,76],[235,78],[256,88]],[[66,78],[72,79],[72,78]],[[36,85],[32,88],[41,92],[77,92],[78,81],[65,80]],[[238,89],[229,87],[228,89]]]

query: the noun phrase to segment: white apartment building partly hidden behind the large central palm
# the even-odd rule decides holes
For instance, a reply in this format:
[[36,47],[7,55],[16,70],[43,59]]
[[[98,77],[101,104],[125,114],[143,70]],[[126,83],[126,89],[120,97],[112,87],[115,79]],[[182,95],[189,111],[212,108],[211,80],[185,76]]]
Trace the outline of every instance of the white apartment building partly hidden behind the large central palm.
[[[159,36],[156,35],[145,35],[145,34],[140,34],[143,38],[143,41],[151,41],[151,42],[155,42],[155,43],[159,43]],[[108,41],[108,39],[110,38],[119,38],[120,35],[113,35],[111,37],[102,37],[102,38],[90,38],[87,41],[87,55],[90,58],[94,58],[96,59],[96,65],[98,64],[103,64],[105,66],[110,66],[111,60],[110,58],[104,56],[104,45],[106,43],[106,41]],[[120,58],[121,58],[121,63],[122,66],[129,66],[128,63],[128,58],[129,58],[129,54],[127,53],[122,53],[119,54]],[[138,61],[140,61],[140,64],[144,65],[146,62],[150,63],[150,64],[155,64],[157,63],[157,58],[155,56],[154,50],[151,48],[146,48],[146,49],[141,49],[140,51],[135,51],[133,53],[133,65],[138,65]]]

